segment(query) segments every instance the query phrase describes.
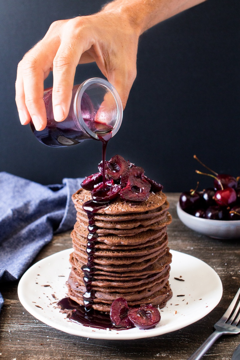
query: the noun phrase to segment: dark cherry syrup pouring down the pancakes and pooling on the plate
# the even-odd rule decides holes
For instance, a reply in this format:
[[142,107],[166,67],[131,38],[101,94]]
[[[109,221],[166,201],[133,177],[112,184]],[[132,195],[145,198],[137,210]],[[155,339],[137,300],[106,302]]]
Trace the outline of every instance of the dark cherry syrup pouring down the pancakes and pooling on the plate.
[[95,298],[95,291],[94,289],[92,289],[92,282],[95,280],[94,253],[95,242],[98,238],[98,234],[96,233],[98,227],[95,225],[94,214],[100,209],[108,206],[108,204],[110,203],[110,200],[106,200],[109,187],[105,185],[105,154],[108,141],[112,137],[112,131],[103,132],[103,130],[100,130],[96,131],[96,134],[98,134],[99,140],[103,143],[103,190],[95,192],[94,198],[97,198],[97,201],[89,200],[82,205],[82,208],[87,213],[87,217],[89,219],[89,226],[87,228],[89,233],[87,235],[86,248],[87,264],[83,265],[81,268],[84,274],[83,282],[86,287],[86,292],[83,294],[84,305],[79,305],[77,302],[71,300],[71,298],[69,297],[60,300],[57,305],[64,312],[68,312],[68,310],[71,310],[68,313],[70,315],[69,320],[75,323],[98,329],[126,330],[132,328],[133,326],[127,328],[116,327],[113,325],[109,314],[105,314],[104,312],[94,310],[92,308],[92,304]]

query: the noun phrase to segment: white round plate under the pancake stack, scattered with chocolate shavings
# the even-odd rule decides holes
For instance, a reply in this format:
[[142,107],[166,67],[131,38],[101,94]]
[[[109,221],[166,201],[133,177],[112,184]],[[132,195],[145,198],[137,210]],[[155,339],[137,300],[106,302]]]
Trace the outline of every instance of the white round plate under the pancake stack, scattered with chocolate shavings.
[[[158,336],[203,318],[222,297],[221,280],[210,266],[196,257],[171,250],[169,282],[173,297],[160,310],[161,320],[155,328],[108,331],[85,327],[69,321],[56,307],[56,302],[66,296],[65,282],[70,272],[68,259],[72,251],[63,250],[40,260],[26,271],[18,285],[18,297],[25,309],[43,323],[65,333],[108,340]],[[184,281],[176,280],[175,277]]]

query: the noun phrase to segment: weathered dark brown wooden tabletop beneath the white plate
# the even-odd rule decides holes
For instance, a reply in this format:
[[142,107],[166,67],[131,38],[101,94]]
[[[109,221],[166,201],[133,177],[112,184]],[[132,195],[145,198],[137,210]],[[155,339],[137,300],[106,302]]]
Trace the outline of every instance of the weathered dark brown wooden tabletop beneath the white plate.
[[[169,193],[173,217],[168,227],[171,249],[193,255],[220,276],[223,296],[217,307],[196,323],[159,337],[130,341],[86,339],[53,329],[30,315],[18,300],[18,283],[1,284],[4,306],[0,314],[0,360],[185,360],[212,333],[240,286],[240,241],[214,240],[188,229],[178,219],[179,194]],[[70,231],[57,235],[34,262],[71,247]],[[240,336],[222,336],[204,356],[230,360]]]

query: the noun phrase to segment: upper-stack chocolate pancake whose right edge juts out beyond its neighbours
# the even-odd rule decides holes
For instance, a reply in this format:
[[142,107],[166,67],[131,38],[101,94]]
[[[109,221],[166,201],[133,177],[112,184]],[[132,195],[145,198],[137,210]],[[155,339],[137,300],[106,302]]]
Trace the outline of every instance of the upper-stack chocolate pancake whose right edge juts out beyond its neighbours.
[[[79,219],[77,219],[79,221]],[[152,230],[160,230],[162,228],[164,228],[164,226],[167,226],[169,224],[171,224],[172,222],[172,216],[169,214],[169,212],[167,212],[166,216],[164,217],[164,219],[154,222],[153,224],[150,225],[146,225],[146,226],[142,226],[139,225],[137,226],[137,228],[133,228],[133,229],[103,229],[103,228],[98,228],[98,230],[96,231],[96,233],[98,235],[106,235],[106,234],[115,234],[118,236],[127,236],[127,235],[135,235],[135,234],[139,234],[142,231],[146,231],[149,229]],[[87,224],[85,222],[80,222],[80,226],[82,226],[83,228],[87,229]]]

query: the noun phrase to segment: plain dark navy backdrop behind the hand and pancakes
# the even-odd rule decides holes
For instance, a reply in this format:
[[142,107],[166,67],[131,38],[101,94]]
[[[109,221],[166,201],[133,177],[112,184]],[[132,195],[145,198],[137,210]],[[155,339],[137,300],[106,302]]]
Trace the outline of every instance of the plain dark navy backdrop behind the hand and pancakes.
[[[22,126],[15,105],[18,62],[58,19],[97,12],[99,0],[0,2],[0,171],[42,184],[96,172],[101,143],[70,148],[39,143]],[[137,78],[123,122],[110,141],[116,153],[144,167],[165,191],[200,188],[211,181],[193,154],[217,172],[240,175],[239,0],[208,0],[141,36]],[[95,64],[78,66],[75,84],[100,76]],[[51,86],[51,76],[46,86]]]

